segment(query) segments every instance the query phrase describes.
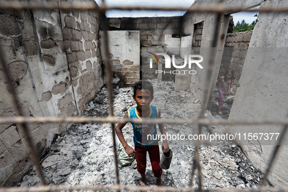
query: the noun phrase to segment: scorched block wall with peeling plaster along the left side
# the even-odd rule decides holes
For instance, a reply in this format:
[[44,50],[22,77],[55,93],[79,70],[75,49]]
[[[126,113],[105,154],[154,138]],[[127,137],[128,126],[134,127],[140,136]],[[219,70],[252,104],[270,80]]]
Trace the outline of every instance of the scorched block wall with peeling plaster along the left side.
[[[25,116],[78,115],[96,95],[103,85],[97,18],[95,11],[0,11],[1,48]],[[2,68],[0,92],[0,116],[16,116]],[[67,127],[29,125],[38,155]],[[1,125],[0,139],[0,186],[17,184],[33,163],[21,126]]]

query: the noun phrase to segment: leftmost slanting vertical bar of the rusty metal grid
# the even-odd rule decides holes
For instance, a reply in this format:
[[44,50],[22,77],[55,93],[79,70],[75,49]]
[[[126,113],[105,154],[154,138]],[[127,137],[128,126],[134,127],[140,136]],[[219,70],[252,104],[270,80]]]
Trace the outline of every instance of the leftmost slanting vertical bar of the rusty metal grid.
[[[19,116],[23,116],[23,113],[22,113],[22,111],[20,109],[20,102],[19,102],[18,96],[16,95],[15,90],[13,89],[12,78],[11,78],[11,75],[9,73],[9,69],[8,69],[6,60],[4,59],[4,54],[3,54],[3,51],[2,51],[1,47],[2,47],[2,45],[0,44],[0,62],[1,62],[1,65],[3,67],[4,73],[5,73],[5,77],[7,79],[7,84],[8,84],[7,89],[9,89],[10,93],[12,94],[13,100],[14,100],[14,102],[16,104],[16,109],[17,109],[18,115]],[[46,181],[44,179],[43,172],[42,172],[42,170],[40,168],[39,157],[36,154],[36,150],[35,150],[34,144],[32,142],[32,137],[31,137],[31,135],[29,133],[28,125],[27,125],[27,123],[23,122],[23,123],[21,123],[21,126],[23,128],[25,137],[27,139],[27,142],[28,142],[28,145],[29,145],[29,149],[30,149],[30,153],[31,153],[32,158],[34,160],[34,163],[36,164],[36,167],[38,169],[41,182],[42,182],[43,185],[46,185]]]

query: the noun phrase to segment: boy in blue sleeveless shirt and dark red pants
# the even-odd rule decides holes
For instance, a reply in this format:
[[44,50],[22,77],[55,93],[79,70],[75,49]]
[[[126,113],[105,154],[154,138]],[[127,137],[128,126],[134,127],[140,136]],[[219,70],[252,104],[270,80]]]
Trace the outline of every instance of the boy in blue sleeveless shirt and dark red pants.
[[[133,86],[133,99],[136,101],[137,106],[129,110],[128,113],[123,118],[161,118],[160,111],[157,107],[151,106],[150,103],[153,100],[154,90],[153,85],[145,80],[140,80],[136,82]],[[158,140],[151,139],[156,138],[157,130],[155,124],[139,124],[131,123],[133,125],[133,140],[135,148],[131,148],[122,133],[123,127],[126,123],[119,123],[116,126],[116,134],[122,143],[126,153],[129,156],[136,156],[137,171],[141,174],[140,185],[144,186],[147,184],[147,178],[145,176],[146,171],[146,154],[149,153],[152,170],[154,176],[157,178],[156,185],[162,186],[162,169],[160,164],[160,152],[158,146]],[[161,134],[166,134],[164,125],[162,123],[158,124]],[[154,137],[149,136],[154,135]],[[165,139],[162,144],[162,151],[164,153],[169,152],[168,142]]]

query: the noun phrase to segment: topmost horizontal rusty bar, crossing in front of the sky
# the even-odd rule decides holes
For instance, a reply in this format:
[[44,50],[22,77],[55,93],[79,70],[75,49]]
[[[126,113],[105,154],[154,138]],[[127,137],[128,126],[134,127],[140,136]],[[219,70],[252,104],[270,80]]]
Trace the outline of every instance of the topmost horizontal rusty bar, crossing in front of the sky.
[[50,2],[23,2],[23,1],[1,1],[0,9],[82,9],[97,11],[107,10],[163,10],[163,11],[193,11],[193,12],[212,12],[212,13],[226,13],[226,12],[288,12],[288,7],[265,7],[265,8],[252,8],[247,9],[245,7],[225,7],[223,5],[194,5],[190,8],[187,7],[150,7],[150,6],[98,6],[94,2],[73,2],[67,3],[60,1]]

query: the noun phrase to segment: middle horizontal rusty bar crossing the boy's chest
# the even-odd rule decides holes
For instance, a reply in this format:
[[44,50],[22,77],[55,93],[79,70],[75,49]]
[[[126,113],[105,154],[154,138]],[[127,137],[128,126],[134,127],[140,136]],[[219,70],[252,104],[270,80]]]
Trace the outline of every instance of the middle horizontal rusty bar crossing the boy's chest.
[[[9,117],[0,118],[0,124],[14,123],[166,123],[166,124],[193,124],[194,120],[189,119],[118,119],[115,117]],[[288,125],[288,118],[285,119],[249,119],[249,120],[225,120],[200,118],[201,125]]]

